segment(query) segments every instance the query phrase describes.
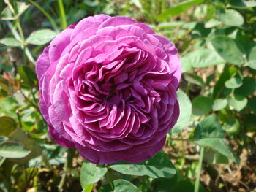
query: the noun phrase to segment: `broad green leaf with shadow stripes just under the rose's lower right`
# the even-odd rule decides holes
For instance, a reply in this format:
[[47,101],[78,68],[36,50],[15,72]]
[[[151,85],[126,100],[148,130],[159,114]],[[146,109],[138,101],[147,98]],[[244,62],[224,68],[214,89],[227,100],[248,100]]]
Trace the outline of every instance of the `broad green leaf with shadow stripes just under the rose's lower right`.
[[140,164],[120,162],[110,165],[110,168],[122,174],[136,176],[148,175],[151,178],[170,178],[176,174],[176,169],[171,163],[170,158],[162,151],[157,153],[153,158],[149,158],[147,161]]

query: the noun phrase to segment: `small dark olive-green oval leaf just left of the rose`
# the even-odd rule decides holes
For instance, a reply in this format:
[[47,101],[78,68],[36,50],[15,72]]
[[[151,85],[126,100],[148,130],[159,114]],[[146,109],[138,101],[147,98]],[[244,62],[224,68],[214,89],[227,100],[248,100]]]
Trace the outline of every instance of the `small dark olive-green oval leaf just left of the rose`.
[[18,74],[24,82],[30,85],[34,85],[37,82],[37,74],[28,66],[20,66],[18,68]]

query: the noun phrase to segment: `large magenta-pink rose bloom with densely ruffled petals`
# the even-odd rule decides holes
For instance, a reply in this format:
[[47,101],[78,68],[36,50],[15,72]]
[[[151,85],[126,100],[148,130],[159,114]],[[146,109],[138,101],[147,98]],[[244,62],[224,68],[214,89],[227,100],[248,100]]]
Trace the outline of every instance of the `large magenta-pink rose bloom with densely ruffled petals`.
[[177,53],[131,18],[95,15],[69,26],[36,64],[50,137],[94,164],[151,158],[179,115]]

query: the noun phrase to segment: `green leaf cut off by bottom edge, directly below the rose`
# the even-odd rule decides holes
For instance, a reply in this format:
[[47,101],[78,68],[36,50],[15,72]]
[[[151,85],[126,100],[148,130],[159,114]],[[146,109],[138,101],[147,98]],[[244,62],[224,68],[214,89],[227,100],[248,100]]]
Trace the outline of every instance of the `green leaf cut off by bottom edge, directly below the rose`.
[[114,180],[114,192],[138,192],[139,189],[127,180]]

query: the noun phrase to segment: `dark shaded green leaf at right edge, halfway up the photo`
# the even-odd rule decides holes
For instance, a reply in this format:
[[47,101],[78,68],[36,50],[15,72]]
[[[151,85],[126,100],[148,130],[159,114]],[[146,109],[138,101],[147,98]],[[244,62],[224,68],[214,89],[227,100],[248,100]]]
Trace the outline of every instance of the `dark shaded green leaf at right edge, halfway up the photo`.
[[240,88],[236,88],[234,91],[235,95],[239,96],[249,96],[256,91],[256,80],[252,77],[245,77],[243,80],[243,85]]

